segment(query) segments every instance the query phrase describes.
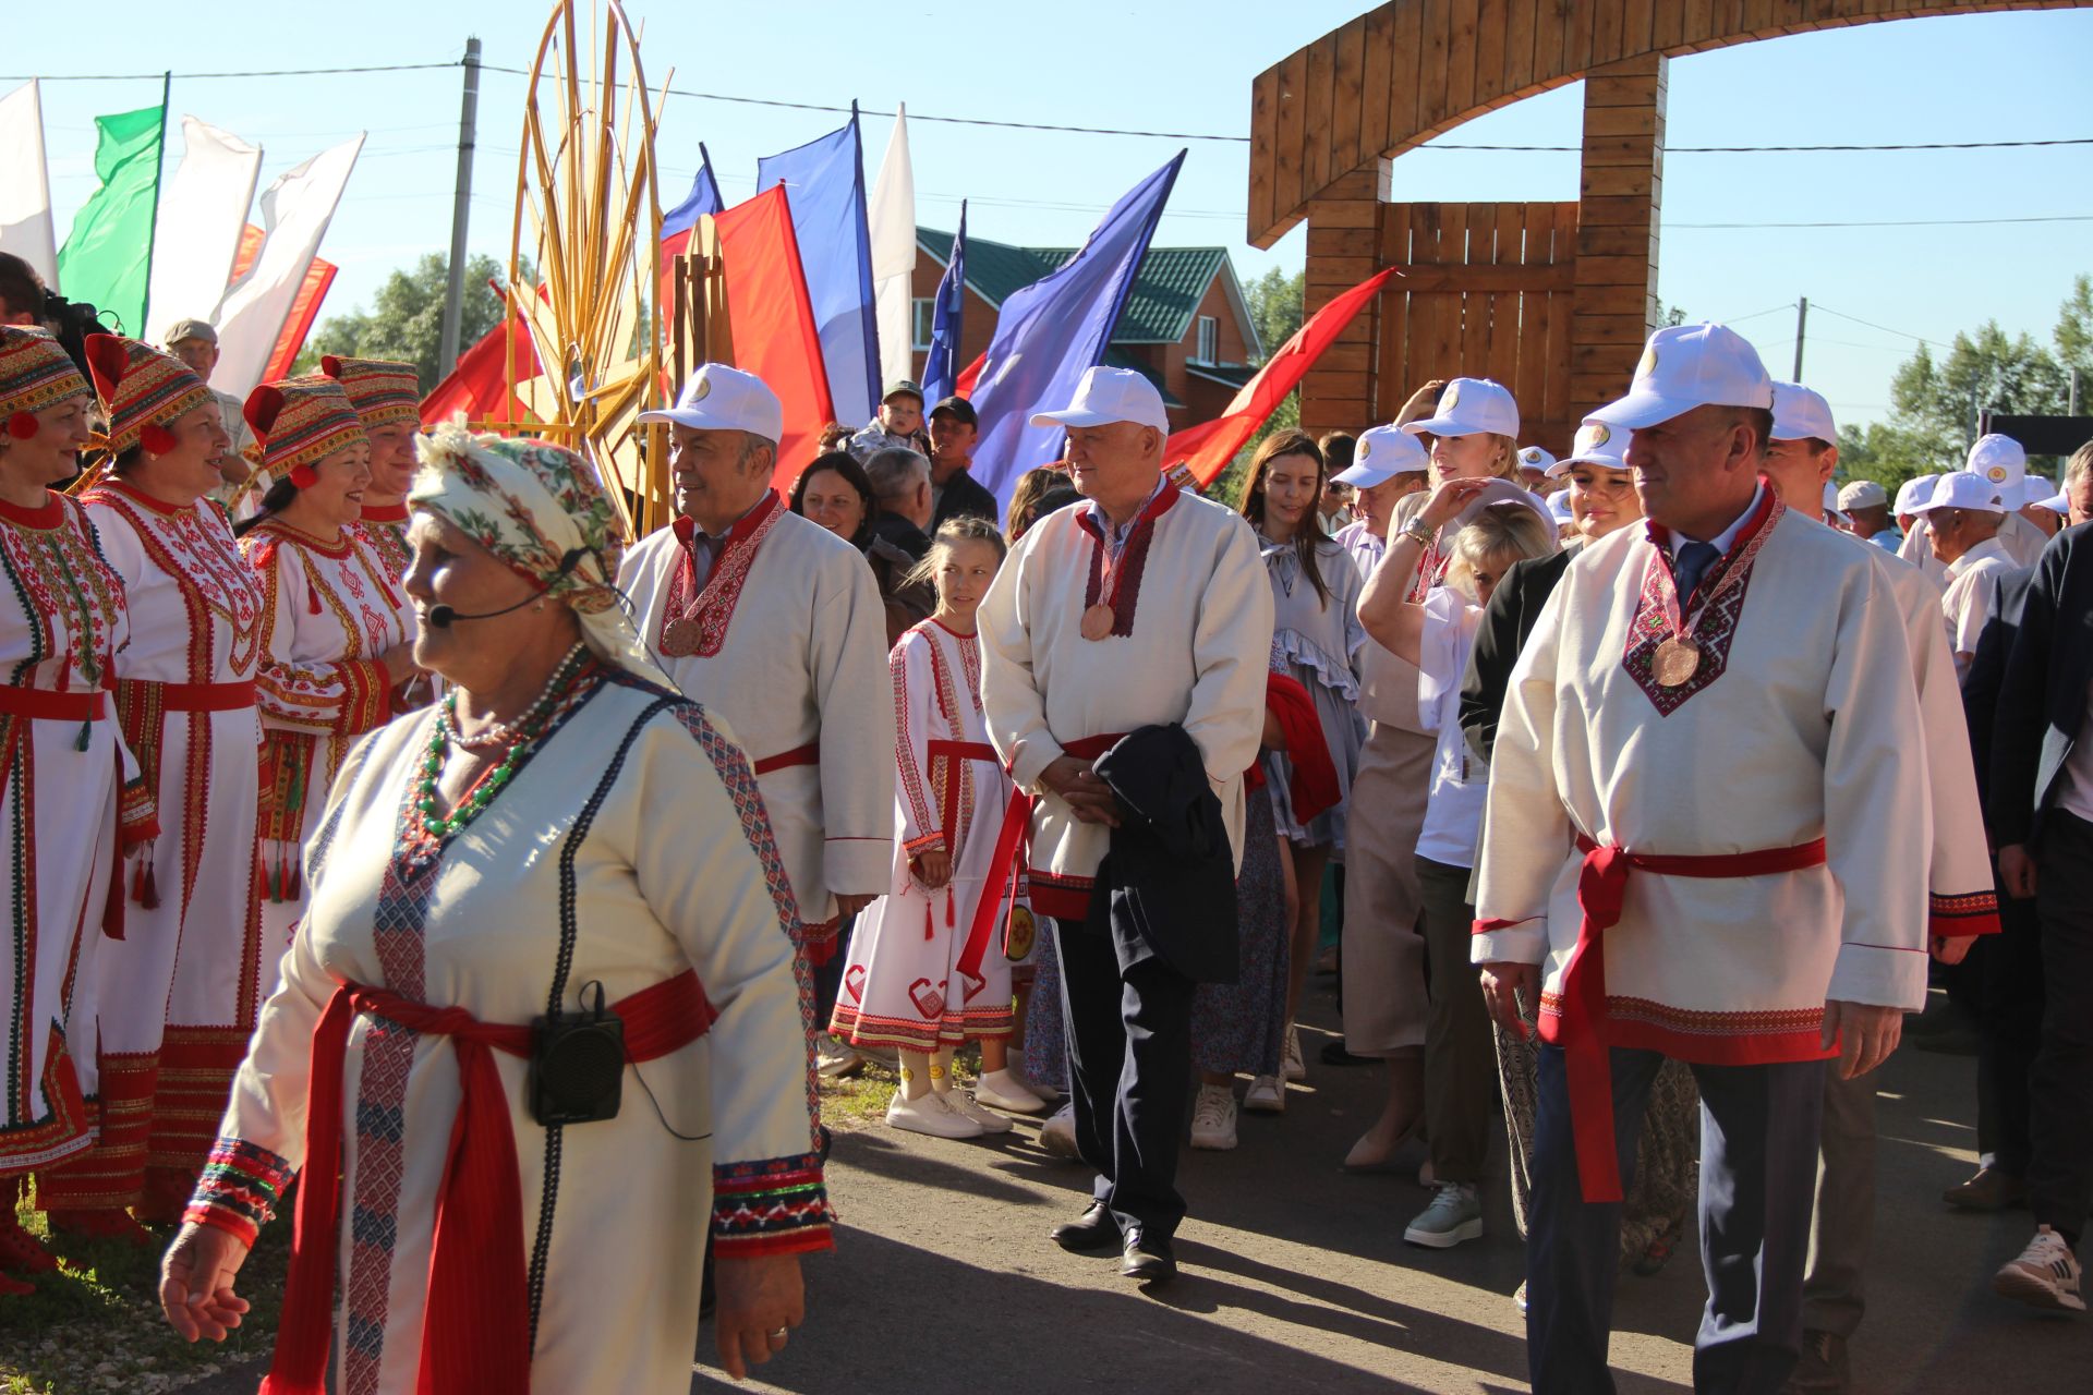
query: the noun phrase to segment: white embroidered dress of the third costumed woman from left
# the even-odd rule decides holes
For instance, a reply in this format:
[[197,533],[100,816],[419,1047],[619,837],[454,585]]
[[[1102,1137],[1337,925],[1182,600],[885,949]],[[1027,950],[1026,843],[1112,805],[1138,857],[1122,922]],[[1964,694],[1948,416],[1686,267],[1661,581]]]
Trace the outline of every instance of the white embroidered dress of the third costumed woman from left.
[[393,713],[379,655],[412,638],[398,577],[360,527],[327,544],[283,519],[241,538],[262,579],[262,933],[283,945],[306,906],[299,849],[350,745]]

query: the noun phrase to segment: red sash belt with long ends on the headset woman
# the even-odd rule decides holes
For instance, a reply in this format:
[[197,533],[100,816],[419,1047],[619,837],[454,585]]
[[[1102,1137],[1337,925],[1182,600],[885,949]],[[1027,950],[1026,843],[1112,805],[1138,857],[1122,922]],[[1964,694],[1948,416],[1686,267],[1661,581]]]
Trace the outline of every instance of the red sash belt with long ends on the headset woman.
[[[626,1023],[626,1060],[689,1046],[718,1012],[687,968],[613,1008]],[[341,1236],[341,1060],[358,1014],[383,1016],[421,1035],[450,1037],[465,1098],[450,1125],[435,1198],[429,1301],[423,1316],[421,1395],[530,1391],[530,1295],[523,1270],[523,1188],[509,1096],[496,1052],[530,1056],[530,1027],[498,1027],[465,1008],[433,1008],[381,987],[343,983],[312,1031],[306,1173],[285,1286],[276,1359],[264,1395],[322,1395]]]

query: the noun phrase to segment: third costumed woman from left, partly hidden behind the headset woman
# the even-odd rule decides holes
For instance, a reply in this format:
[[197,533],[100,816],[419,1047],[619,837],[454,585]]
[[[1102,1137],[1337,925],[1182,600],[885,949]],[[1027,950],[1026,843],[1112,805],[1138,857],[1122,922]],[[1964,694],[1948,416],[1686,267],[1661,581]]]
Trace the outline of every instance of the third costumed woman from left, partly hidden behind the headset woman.
[[264,383],[247,425],[276,477],[264,510],[234,531],[264,596],[262,931],[280,945],[306,906],[299,849],[350,745],[393,715],[393,694],[421,669],[400,573],[358,527],[370,443],[341,385]]

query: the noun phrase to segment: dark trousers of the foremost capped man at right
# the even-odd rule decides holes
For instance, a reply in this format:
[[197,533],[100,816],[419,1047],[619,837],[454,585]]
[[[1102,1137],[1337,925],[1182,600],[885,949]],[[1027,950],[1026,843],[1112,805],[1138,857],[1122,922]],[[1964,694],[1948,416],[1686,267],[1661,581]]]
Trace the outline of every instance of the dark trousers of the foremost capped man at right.
[[[1622,1186],[1664,1056],[1614,1048]],[[1526,1211],[1526,1362],[1534,1395],[1612,1395],[1605,1364],[1620,1274],[1620,1203],[1586,1203],[1570,1081],[1543,1046],[1534,1188]],[[1708,1307],[1693,1339],[1702,1395],[1775,1395],[1802,1351],[1802,1265],[1817,1200],[1825,1062],[1693,1067],[1702,1094],[1700,1242]]]

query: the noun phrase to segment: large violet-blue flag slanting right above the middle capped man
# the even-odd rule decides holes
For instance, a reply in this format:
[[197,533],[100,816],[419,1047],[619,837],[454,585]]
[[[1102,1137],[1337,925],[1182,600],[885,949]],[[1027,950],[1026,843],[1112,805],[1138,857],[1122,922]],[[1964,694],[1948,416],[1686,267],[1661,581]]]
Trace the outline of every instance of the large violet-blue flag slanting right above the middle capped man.
[[1111,326],[1134,289],[1183,163],[1185,151],[1178,151],[1111,205],[1082,251],[1003,301],[973,389],[973,410],[982,418],[973,477],[994,489],[1005,508],[1017,477],[1055,458],[1061,427],[1034,427],[1032,414],[1065,408],[1084,368],[1105,358]]

